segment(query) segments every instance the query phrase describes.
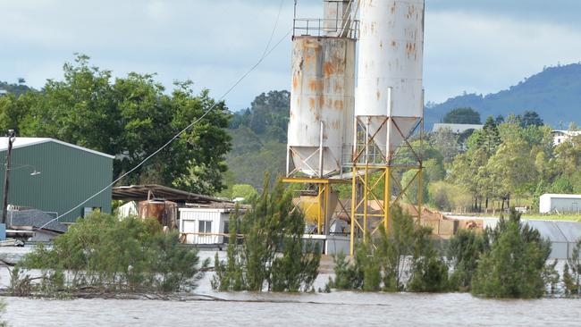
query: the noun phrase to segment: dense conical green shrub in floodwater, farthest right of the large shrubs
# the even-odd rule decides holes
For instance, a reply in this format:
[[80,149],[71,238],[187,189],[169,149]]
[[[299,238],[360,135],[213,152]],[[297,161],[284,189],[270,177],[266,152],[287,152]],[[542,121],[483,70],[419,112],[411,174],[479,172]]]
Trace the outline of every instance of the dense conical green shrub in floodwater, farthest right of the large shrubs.
[[485,298],[540,298],[545,291],[543,272],[551,253],[549,241],[520,222],[514,209],[487,231],[490,251],[485,252],[472,280],[471,292]]

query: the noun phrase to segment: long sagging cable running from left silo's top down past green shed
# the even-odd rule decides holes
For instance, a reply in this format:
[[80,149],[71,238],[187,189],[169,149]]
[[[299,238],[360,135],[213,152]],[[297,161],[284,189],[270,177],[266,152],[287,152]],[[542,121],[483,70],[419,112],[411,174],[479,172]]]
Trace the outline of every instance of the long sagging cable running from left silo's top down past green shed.
[[[281,7],[282,7],[282,2],[281,2]],[[280,13],[279,13],[279,15],[280,15]],[[278,23],[278,19],[277,19],[277,23]],[[276,23],[276,24],[277,24],[277,23]],[[276,24],[275,24],[275,27],[274,27],[274,29],[276,28]],[[278,42],[276,42],[276,44],[274,44],[274,46],[270,48],[270,50],[268,50],[268,51],[265,51],[265,53],[264,53],[264,54],[263,54],[263,55],[260,57],[260,59],[258,59],[257,63],[255,63],[255,64],[254,64],[252,67],[250,67],[250,69],[248,69],[248,71],[246,71],[244,74],[242,74],[242,76],[240,77],[240,79],[236,80],[236,82],[234,82],[234,84],[232,84],[232,86],[231,86],[230,88],[228,88],[228,90],[226,90],[226,92],[224,92],[224,93],[223,93],[223,95],[222,95],[222,96],[220,96],[220,97],[218,98],[218,100],[217,100],[217,101],[215,101],[214,105],[211,105],[211,106],[210,106],[210,107],[209,107],[209,108],[206,110],[206,112],[202,113],[202,115],[198,117],[198,119],[196,119],[194,122],[191,122],[191,123],[189,123],[189,125],[188,125],[188,126],[186,126],[186,127],[183,129],[183,130],[181,130],[180,132],[178,132],[177,134],[175,134],[175,135],[173,136],[173,138],[171,138],[169,141],[167,141],[167,142],[166,142],[166,143],[165,143],[165,144],[164,144],[162,147],[159,147],[159,148],[158,148],[156,151],[154,151],[154,152],[153,152],[151,155],[147,155],[147,157],[146,157],[145,159],[143,159],[143,160],[142,160],[142,161],[141,161],[139,164],[137,164],[135,167],[131,168],[131,170],[129,170],[128,172],[125,172],[125,173],[123,173],[123,174],[122,174],[120,177],[118,177],[116,180],[114,180],[114,181],[112,181],[110,184],[108,184],[108,185],[107,185],[107,186],[106,186],[104,189],[101,189],[100,191],[98,191],[97,193],[95,193],[94,195],[92,195],[91,197],[88,197],[88,198],[87,198],[87,199],[85,199],[83,202],[81,202],[79,205],[75,205],[75,206],[74,206],[74,207],[73,207],[71,210],[69,210],[69,211],[65,212],[64,214],[60,214],[60,215],[58,215],[58,216],[57,216],[55,219],[52,219],[52,220],[50,220],[50,221],[46,222],[44,225],[42,225],[42,226],[38,227],[37,229],[35,229],[35,231],[40,231],[40,230],[44,229],[44,228],[45,228],[45,227],[46,227],[46,226],[47,226],[49,223],[51,223],[51,222],[55,222],[55,221],[58,221],[58,220],[59,220],[60,218],[62,218],[64,215],[66,215],[66,214],[71,214],[73,211],[75,211],[75,210],[79,209],[79,208],[80,208],[80,206],[82,206],[82,205],[86,204],[86,203],[87,203],[89,200],[91,200],[92,198],[94,198],[94,197],[97,197],[99,194],[101,194],[101,193],[105,192],[105,190],[107,190],[107,189],[111,188],[112,186],[114,186],[114,185],[115,185],[115,183],[117,183],[119,180],[122,180],[122,179],[123,179],[123,178],[125,178],[127,175],[129,175],[131,172],[134,172],[134,171],[135,171],[136,169],[138,169],[140,166],[142,166],[143,164],[145,164],[145,163],[147,162],[147,160],[151,159],[152,157],[154,157],[155,155],[157,155],[158,153],[160,153],[160,152],[161,152],[161,151],[162,151],[162,150],[163,150],[165,147],[168,147],[170,144],[172,144],[172,143],[173,143],[173,141],[174,141],[176,138],[179,138],[179,137],[181,136],[181,134],[182,134],[182,133],[184,133],[185,131],[189,130],[189,129],[190,129],[192,126],[194,126],[196,123],[198,123],[199,121],[201,121],[202,119],[204,119],[204,117],[206,117],[206,115],[207,115],[208,113],[210,113],[212,110],[214,110],[215,106],[216,106],[216,105],[218,105],[218,104],[220,104],[220,103],[223,101],[224,97],[228,96],[228,95],[230,94],[230,92],[232,92],[232,90],[233,90],[234,88],[236,88],[236,87],[237,87],[237,86],[240,84],[240,82],[241,82],[242,80],[245,80],[245,79],[248,77],[248,75],[249,75],[250,73],[252,73],[252,71],[254,71],[254,70],[256,70],[256,69],[257,69],[258,65],[260,65],[260,63],[262,63],[262,62],[265,60],[265,58],[266,58],[268,55],[270,55],[270,54],[271,54],[271,53],[274,51],[274,49],[275,49],[276,47],[278,47],[278,46],[279,46],[279,45],[282,43],[282,41],[283,41],[285,38],[287,38],[287,37],[290,35],[290,32],[291,32],[291,31],[292,31],[292,29],[290,29],[290,30],[289,30],[289,31],[288,31],[286,34],[284,34],[284,36],[282,36],[282,38],[280,38],[280,39],[278,40]],[[274,32],[273,32],[273,34],[274,34]],[[269,43],[270,43],[270,41],[269,41]]]

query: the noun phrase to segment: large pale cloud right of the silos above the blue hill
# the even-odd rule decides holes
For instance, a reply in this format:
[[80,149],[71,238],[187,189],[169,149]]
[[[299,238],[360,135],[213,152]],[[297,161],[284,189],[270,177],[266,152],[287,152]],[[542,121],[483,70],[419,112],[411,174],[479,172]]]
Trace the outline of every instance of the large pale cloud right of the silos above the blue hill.
[[544,65],[579,62],[581,29],[507,16],[443,11],[426,15],[426,98],[492,93]]

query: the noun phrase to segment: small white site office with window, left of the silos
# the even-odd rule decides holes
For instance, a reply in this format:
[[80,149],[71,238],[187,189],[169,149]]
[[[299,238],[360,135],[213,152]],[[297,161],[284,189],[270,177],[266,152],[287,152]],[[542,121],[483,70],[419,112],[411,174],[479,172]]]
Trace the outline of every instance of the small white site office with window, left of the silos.
[[229,219],[229,209],[180,208],[180,232],[188,244],[223,244]]

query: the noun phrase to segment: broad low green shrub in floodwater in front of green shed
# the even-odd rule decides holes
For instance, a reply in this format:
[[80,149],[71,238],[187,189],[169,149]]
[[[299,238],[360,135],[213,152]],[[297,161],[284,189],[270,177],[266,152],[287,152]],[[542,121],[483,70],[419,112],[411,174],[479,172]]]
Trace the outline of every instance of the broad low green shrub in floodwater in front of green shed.
[[51,249],[39,245],[21,262],[43,271],[41,292],[191,290],[207,264],[200,264],[197,248],[179,244],[177,231],[164,233],[154,219],[119,221],[98,213],[72,225]]

